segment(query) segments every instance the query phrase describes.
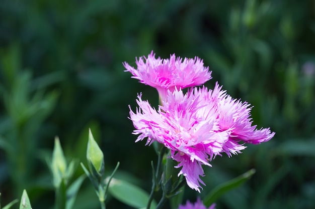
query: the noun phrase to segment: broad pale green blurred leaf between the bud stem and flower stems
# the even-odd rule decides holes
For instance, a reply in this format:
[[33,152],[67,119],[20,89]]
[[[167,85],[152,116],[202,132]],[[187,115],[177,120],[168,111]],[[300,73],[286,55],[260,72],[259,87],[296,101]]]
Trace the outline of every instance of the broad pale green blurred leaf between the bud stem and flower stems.
[[[148,193],[142,188],[116,178],[111,180],[108,191],[116,199],[135,208],[145,207],[149,199]],[[156,202],[152,201],[150,208],[153,209],[155,207]]]

